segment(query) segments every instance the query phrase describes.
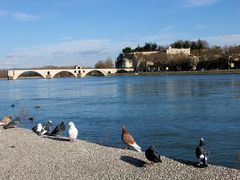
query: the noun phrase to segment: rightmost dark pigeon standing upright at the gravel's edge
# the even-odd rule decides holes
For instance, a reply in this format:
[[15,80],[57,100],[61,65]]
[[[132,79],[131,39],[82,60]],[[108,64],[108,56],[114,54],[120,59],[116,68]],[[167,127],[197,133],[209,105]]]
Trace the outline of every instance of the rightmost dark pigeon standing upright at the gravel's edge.
[[199,159],[200,167],[207,167],[207,160],[209,158],[210,152],[206,146],[205,140],[203,138],[200,139],[199,145],[196,148],[196,157]]

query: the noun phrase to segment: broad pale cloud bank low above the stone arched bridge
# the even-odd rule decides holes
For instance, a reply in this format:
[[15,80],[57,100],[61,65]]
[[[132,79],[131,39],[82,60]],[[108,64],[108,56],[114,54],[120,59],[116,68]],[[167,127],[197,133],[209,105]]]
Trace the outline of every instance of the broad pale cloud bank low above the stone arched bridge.
[[94,66],[98,60],[108,57],[115,60],[126,44],[107,39],[64,41],[16,49],[0,59],[0,67],[21,68],[47,65]]

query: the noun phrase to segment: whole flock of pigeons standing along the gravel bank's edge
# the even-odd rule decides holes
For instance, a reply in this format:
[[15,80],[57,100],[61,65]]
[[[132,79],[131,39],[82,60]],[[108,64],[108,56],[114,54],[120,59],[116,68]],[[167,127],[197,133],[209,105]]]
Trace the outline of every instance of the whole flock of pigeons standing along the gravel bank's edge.
[[[11,116],[5,116],[0,121],[0,126],[3,126],[3,129],[15,128],[19,124],[19,122],[20,122],[19,117],[17,117],[15,120],[12,120]],[[63,135],[63,132],[66,129],[64,122],[61,122],[51,131],[52,127],[53,127],[52,121],[48,121],[44,124],[38,123],[36,126],[32,128],[32,131],[38,135],[61,137]],[[74,142],[77,140],[78,129],[76,128],[73,122],[68,123],[68,136],[71,142]],[[126,145],[125,149],[131,146],[137,151],[142,152],[141,147],[136,143],[133,136],[129,133],[126,127],[122,127],[121,139],[123,143]],[[208,166],[207,161],[208,161],[209,155],[210,154],[206,146],[205,140],[201,138],[199,145],[196,147],[196,157],[199,160],[198,162],[199,167]],[[155,146],[150,146],[145,151],[145,156],[151,162],[151,164],[162,162],[160,153],[157,151]]]

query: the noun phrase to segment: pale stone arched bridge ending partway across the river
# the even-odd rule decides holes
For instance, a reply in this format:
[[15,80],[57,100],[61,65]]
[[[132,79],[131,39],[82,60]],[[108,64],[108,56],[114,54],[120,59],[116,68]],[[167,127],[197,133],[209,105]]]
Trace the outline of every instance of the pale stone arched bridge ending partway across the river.
[[43,78],[54,78],[56,75],[62,73],[62,72],[68,72],[72,74],[75,77],[84,77],[86,75],[91,75],[95,72],[98,72],[104,76],[107,76],[108,74],[118,73],[118,72],[133,72],[133,68],[111,68],[111,69],[88,69],[88,68],[82,68],[80,66],[76,66],[72,69],[12,69],[8,70],[8,79],[17,79],[22,74],[27,72],[34,72],[39,74],[39,76],[42,76]]

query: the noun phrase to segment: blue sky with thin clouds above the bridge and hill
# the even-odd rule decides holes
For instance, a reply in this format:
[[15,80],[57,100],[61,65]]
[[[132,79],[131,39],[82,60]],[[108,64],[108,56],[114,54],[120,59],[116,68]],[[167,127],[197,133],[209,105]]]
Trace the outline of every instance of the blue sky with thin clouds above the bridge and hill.
[[0,68],[94,66],[124,47],[240,44],[239,0],[0,0]]

